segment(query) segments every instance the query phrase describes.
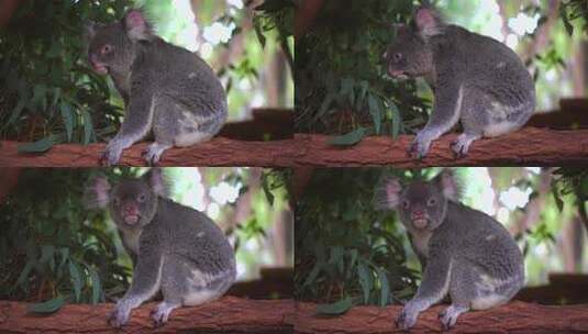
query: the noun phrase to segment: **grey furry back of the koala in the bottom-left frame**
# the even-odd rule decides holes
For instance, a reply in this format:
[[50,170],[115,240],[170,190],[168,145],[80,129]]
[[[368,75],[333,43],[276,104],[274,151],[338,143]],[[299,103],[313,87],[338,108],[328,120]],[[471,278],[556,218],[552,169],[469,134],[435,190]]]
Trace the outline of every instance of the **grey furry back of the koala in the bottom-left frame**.
[[235,271],[231,244],[221,229],[202,212],[160,198],[152,224],[166,253],[179,256],[210,275]]

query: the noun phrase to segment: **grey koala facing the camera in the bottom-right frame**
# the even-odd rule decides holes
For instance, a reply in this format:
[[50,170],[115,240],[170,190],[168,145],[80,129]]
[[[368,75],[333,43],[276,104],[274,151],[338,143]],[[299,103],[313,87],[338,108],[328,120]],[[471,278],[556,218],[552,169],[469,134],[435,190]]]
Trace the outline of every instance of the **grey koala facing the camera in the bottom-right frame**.
[[376,194],[379,209],[396,210],[421,259],[423,276],[417,294],[404,304],[396,325],[409,330],[420,312],[448,294],[452,304],[440,313],[444,329],[459,314],[507,303],[524,283],[521,250],[495,219],[458,202],[450,170],[432,181],[402,187],[384,182]]

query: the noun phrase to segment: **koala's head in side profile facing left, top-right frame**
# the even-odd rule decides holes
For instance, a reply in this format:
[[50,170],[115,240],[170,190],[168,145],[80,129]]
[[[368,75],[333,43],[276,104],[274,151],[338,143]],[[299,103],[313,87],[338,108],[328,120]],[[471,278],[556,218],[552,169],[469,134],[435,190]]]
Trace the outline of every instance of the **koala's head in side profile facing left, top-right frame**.
[[426,7],[417,10],[410,25],[396,25],[396,38],[384,54],[388,74],[393,78],[406,79],[431,73],[433,55],[428,41],[442,34],[444,27],[439,14]]

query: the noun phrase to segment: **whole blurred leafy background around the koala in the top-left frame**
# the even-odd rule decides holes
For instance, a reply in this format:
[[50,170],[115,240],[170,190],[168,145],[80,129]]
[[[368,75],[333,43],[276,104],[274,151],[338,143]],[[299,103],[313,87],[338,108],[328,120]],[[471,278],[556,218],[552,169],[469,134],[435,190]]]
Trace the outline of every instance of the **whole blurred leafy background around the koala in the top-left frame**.
[[[136,7],[160,37],[197,53],[219,75],[231,123],[221,135],[251,138],[253,132],[256,140],[273,140],[276,132],[291,133],[293,3],[275,2],[2,1],[0,138],[40,142],[22,149],[43,152],[53,144],[112,136],[124,105],[111,80],[91,70],[85,26],[117,22]],[[259,120],[269,125],[259,125]],[[253,121],[258,122],[251,130],[245,122]]]

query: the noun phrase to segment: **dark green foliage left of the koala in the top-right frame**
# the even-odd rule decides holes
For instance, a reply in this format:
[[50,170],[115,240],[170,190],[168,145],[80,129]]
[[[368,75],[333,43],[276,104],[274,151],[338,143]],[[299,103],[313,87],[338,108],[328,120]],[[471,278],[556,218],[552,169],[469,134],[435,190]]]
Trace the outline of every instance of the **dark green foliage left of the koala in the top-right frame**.
[[[426,120],[430,101],[414,80],[386,75],[381,55],[393,41],[393,23],[407,23],[414,1],[326,0],[311,31],[296,44],[297,131],[396,137]],[[400,113],[402,111],[402,114]]]

